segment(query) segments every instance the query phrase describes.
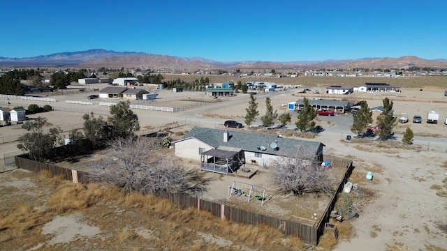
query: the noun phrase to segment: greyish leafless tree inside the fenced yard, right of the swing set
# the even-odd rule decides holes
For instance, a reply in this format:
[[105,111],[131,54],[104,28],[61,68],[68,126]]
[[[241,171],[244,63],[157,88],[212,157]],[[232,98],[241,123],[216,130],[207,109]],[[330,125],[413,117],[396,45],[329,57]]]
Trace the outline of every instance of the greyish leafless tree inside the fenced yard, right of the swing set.
[[298,150],[295,158],[280,158],[270,168],[272,184],[283,194],[329,194],[334,186],[328,172],[321,168],[315,156]]

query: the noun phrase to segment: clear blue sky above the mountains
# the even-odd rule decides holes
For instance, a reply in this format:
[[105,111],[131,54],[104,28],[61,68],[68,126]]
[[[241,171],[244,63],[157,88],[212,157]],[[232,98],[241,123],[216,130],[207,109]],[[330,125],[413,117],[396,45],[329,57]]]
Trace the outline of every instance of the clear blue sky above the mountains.
[[447,59],[447,1],[0,0],[0,56],[105,49],[216,61]]

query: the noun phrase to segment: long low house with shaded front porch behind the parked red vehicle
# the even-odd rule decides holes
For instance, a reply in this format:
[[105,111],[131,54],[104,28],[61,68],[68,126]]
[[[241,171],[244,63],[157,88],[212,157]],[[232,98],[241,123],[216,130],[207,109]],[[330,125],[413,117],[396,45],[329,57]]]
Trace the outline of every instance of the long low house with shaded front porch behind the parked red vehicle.
[[[309,105],[314,107],[314,109],[326,109],[331,112],[344,114],[345,112],[349,112],[352,103],[340,100],[315,99],[315,100],[309,100]],[[287,109],[301,110],[303,107],[304,107],[304,100],[299,99],[296,102],[289,102]]]

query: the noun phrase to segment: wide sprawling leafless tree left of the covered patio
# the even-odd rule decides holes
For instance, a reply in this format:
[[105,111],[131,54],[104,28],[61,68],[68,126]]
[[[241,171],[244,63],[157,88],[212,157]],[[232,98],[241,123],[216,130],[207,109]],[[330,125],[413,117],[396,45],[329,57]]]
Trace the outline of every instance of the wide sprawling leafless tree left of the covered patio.
[[109,143],[112,161],[96,167],[91,180],[111,183],[126,192],[175,192],[196,195],[206,191],[210,179],[197,170],[179,166],[163,154],[158,141],[150,138],[119,138]]

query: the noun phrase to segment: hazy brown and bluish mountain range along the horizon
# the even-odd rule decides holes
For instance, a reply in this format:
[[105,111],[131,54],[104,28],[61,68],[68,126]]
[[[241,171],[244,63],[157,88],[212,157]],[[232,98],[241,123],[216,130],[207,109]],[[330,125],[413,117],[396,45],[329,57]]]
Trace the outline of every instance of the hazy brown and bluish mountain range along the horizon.
[[447,68],[446,59],[420,59],[417,56],[400,58],[365,58],[325,61],[214,61],[201,57],[179,57],[145,52],[114,52],[111,50],[86,50],[60,52],[28,58],[6,58],[0,56],[0,66],[73,66],[78,68],[175,68],[175,69],[321,69],[321,68]]

